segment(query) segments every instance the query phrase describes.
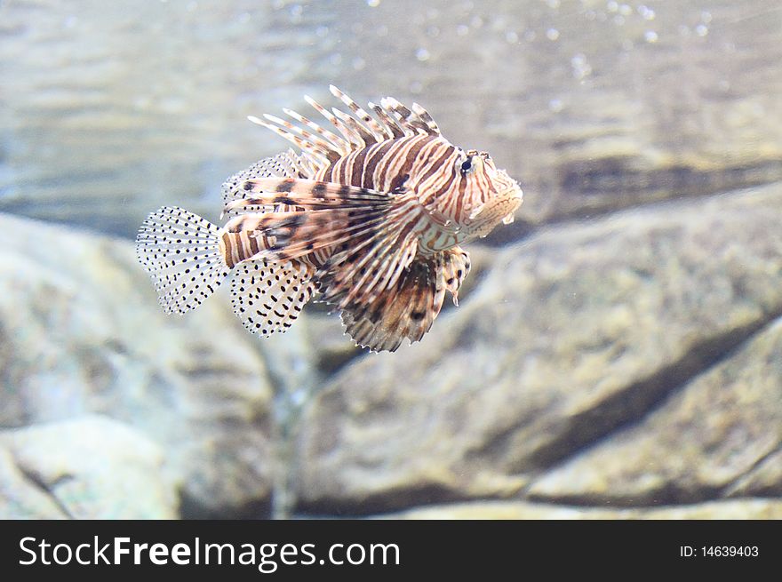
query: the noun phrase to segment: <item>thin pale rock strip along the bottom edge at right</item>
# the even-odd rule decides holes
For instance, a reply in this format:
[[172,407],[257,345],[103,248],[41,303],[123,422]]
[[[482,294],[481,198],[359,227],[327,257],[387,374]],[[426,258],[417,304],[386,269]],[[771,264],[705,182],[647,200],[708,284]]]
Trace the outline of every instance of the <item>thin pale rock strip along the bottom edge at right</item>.
[[710,501],[694,505],[662,507],[577,507],[523,501],[475,501],[445,506],[420,507],[381,519],[782,519],[778,499]]

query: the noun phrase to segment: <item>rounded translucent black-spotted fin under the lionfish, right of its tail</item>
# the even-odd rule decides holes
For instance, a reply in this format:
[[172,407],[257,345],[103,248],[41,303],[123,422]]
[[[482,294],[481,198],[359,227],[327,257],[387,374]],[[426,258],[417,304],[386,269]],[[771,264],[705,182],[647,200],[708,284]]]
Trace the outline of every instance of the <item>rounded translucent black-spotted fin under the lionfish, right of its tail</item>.
[[231,303],[243,326],[259,335],[287,331],[312,298],[314,269],[292,260],[245,260],[231,276]]

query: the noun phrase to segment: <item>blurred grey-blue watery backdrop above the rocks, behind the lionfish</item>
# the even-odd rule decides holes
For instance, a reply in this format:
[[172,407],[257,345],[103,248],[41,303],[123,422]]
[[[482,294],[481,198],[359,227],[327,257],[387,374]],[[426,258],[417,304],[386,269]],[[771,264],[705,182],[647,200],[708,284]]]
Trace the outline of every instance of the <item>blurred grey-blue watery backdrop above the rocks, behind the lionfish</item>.
[[0,208],[125,235],[162,203],[216,218],[220,182],[286,146],[245,116],[304,113],[305,92],[334,105],[329,83],[363,103],[418,100],[521,180],[527,222],[780,179],[777,11],[3,3]]

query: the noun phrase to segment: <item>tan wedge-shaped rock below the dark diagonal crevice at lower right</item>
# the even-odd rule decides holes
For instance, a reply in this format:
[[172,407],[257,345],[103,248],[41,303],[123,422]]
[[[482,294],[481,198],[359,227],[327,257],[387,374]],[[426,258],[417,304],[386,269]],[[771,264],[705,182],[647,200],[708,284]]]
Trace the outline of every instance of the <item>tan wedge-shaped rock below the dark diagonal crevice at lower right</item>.
[[612,506],[691,503],[727,490],[778,496],[780,396],[782,319],[631,427],[533,482],[527,495]]

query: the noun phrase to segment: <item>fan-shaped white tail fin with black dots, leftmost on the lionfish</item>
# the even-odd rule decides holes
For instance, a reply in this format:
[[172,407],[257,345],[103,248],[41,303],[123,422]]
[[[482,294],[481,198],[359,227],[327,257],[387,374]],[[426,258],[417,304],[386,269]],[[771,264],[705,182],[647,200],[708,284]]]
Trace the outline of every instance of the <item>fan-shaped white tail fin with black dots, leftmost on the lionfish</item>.
[[209,220],[176,206],[164,206],[144,220],[136,256],[166,313],[195,309],[228,275],[219,232]]

